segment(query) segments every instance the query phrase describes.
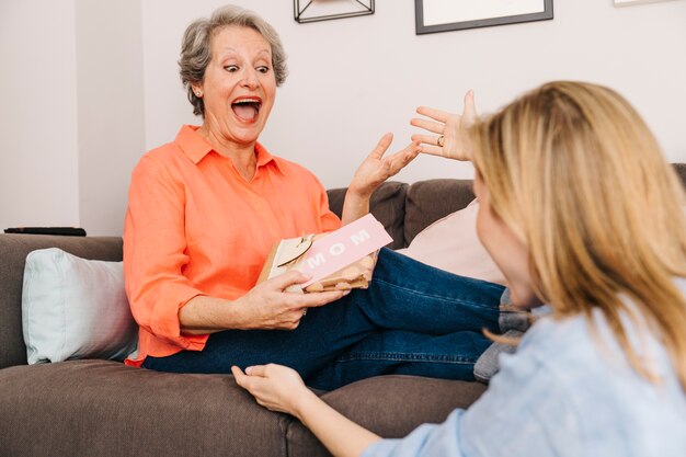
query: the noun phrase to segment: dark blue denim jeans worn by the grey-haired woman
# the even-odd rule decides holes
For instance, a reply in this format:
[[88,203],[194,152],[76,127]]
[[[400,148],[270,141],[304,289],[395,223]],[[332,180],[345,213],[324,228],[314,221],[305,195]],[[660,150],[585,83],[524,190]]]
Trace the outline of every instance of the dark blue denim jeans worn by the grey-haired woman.
[[148,356],[144,367],[227,374],[231,365],[277,363],[323,390],[386,374],[472,380],[491,343],[481,330],[499,329],[502,293],[382,249],[368,289],[310,308],[294,331],[226,330],[203,351]]

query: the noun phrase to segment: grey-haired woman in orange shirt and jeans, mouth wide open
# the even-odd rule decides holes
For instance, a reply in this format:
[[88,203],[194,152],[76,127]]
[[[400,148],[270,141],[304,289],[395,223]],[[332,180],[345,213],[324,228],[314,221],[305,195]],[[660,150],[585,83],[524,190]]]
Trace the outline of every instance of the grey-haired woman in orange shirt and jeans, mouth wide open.
[[[472,379],[501,286],[386,249],[366,290],[285,292],[308,279],[297,272],[255,285],[275,241],[341,226],[320,182],[258,142],[286,77],[282,43],[254,13],[225,7],[188,26],[179,62],[203,124],[133,172],[124,264],[140,331],[127,363],[230,373],[275,361],[322,389],[388,373]],[[384,158],[390,141],[355,173],[343,224],[418,153],[415,144]]]

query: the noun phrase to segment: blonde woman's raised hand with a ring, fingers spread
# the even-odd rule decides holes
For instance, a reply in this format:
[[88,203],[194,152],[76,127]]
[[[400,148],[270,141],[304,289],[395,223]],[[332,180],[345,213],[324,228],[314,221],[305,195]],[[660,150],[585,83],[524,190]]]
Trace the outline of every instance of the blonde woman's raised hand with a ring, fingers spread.
[[432,156],[447,157],[456,160],[471,160],[471,148],[467,141],[467,128],[477,122],[475,94],[468,91],[465,94],[462,114],[447,113],[433,107],[420,106],[416,112],[425,118],[410,121],[415,127],[423,128],[437,135],[412,135],[412,141],[420,144],[420,151]]

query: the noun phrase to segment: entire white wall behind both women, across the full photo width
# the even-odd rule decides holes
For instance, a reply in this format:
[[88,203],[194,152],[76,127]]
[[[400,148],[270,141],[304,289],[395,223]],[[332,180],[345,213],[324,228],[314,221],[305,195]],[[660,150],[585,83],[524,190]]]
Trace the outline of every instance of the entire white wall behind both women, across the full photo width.
[[[281,33],[290,76],[262,140],[343,186],[385,132],[409,140],[416,105],[489,112],[544,81],[611,85],[667,159],[686,162],[686,0],[615,8],[557,0],[554,20],[418,36],[414,2],[298,24],[290,0],[233,0]],[[0,1],[0,228],[80,225],[121,235],[130,169],[198,122],[178,77],[181,35],[222,0]],[[421,157],[398,179],[470,176]]]

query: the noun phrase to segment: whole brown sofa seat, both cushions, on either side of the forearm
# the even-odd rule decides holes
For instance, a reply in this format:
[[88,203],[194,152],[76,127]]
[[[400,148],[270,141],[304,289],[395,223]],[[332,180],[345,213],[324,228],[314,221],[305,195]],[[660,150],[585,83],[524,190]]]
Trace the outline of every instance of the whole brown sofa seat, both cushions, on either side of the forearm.
[[[228,375],[180,375],[117,362],[0,370],[0,455],[328,456],[293,418],[270,412]],[[442,422],[484,390],[477,382],[381,376],[324,401],[386,437]]]

